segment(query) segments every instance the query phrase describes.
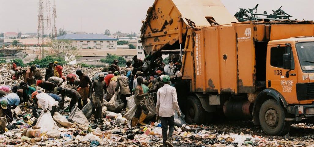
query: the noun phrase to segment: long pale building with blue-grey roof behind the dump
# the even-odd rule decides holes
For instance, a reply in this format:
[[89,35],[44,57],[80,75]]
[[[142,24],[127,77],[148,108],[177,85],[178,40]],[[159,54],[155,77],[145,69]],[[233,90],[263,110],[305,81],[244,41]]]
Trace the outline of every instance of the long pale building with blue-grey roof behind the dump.
[[103,34],[67,34],[57,37],[60,40],[73,40],[78,49],[117,49],[118,39]]

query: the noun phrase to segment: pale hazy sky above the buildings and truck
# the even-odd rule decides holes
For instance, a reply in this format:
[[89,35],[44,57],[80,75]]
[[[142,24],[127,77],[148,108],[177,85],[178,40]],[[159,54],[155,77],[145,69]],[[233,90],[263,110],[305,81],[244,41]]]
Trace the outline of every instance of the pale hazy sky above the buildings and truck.
[[[313,0],[221,0],[234,15],[239,8],[253,8],[258,13],[277,10],[283,5],[286,13],[297,19],[314,20]],[[53,3],[53,0],[50,0]],[[57,28],[103,33],[139,32],[147,9],[154,0],[56,0]],[[38,0],[0,0],[0,32],[37,32]],[[81,23],[82,20],[82,23]]]

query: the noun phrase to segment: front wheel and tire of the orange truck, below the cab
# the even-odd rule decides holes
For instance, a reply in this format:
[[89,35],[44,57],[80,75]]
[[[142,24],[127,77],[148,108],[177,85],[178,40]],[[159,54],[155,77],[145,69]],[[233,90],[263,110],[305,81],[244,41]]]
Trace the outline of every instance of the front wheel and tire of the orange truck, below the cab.
[[260,124],[268,135],[285,135],[290,131],[290,123],[284,118],[284,109],[273,99],[265,101],[259,111]]

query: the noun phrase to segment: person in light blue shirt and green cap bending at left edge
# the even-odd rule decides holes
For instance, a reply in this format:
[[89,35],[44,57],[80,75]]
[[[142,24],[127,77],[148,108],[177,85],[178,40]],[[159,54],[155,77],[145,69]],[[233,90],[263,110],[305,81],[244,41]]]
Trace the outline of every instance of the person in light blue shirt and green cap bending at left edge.
[[19,89],[16,93],[9,93],[1,98],[1,109],[7,117],[8,122],[13,121],[11,109],[15,109],[19,105],[22,96],[23,90]]

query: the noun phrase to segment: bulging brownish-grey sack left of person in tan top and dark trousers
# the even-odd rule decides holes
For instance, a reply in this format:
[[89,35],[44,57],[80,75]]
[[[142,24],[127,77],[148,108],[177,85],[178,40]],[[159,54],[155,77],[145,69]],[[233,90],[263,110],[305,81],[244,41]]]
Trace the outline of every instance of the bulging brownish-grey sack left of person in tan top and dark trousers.
[[124,107],[124,103],[121,100],[121,97],[116,91],[116,93],[112,96],[111,100],[108,102],[107,109],[111,112],[121,112]]

